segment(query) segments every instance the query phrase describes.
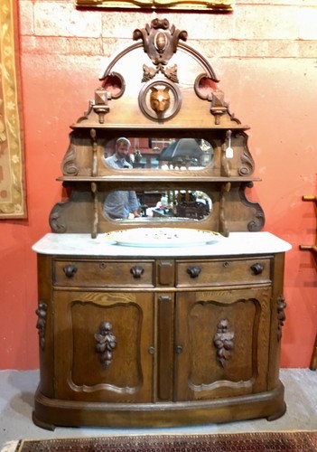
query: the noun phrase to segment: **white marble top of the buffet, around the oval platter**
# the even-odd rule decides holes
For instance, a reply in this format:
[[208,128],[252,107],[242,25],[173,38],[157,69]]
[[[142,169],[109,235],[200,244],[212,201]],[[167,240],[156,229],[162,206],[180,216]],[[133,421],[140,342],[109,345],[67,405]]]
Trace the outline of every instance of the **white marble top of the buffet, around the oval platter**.
[[270,232],[230,232],[229,237],[220,237],[219,241],[203,246],[164,248],[129,247],[109,243],[105,234],[96,239],[90,234],[48,233],[33,245],[33,251],[39,254],[63,256],[93,257],[212,257],[240,256],[250,254],[280,253],[291,250],[292,246]]

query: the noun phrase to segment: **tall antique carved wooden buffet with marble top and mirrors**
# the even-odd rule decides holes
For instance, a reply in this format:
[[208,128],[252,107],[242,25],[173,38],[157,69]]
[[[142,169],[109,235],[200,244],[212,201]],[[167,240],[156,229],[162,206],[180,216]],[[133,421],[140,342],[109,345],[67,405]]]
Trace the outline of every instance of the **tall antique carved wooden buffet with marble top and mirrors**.
[[[247,200],[259,179],[187,33],[154,19],[108,62],[71,126],[38,255],[33,421],[158,427],[284,414],[284,252]],[[107,165],[118,137],[128,167]],[[138,217],[108,196],[135,191]],[[214,232],[212,232],[214,231]],[[123,237],[123,240],[120,238]]]

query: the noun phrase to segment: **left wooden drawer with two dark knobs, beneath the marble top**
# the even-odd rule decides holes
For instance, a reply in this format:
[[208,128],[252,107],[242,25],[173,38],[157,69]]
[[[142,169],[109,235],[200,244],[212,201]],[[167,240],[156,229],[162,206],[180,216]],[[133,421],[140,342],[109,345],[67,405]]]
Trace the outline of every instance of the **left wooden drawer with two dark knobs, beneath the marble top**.
[[154,260],[55,259],[54,286],[154,287]]

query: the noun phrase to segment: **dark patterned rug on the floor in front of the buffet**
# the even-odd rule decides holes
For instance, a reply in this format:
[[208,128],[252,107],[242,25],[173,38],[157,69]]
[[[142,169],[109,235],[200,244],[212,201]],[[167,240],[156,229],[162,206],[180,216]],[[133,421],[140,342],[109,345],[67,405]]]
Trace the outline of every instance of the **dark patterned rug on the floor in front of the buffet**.
[[21,441],[14,452],[316,452],[316,431],[220,433]]

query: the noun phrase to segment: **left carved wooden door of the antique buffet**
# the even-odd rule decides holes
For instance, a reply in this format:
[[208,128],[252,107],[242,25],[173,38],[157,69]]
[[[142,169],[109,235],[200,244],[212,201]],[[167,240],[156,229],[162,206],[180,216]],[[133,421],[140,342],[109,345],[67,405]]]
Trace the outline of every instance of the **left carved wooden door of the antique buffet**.
[[152,400],[150,293],[54,293],[55,397]]

